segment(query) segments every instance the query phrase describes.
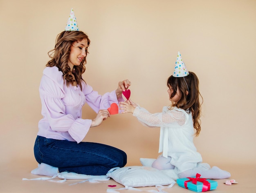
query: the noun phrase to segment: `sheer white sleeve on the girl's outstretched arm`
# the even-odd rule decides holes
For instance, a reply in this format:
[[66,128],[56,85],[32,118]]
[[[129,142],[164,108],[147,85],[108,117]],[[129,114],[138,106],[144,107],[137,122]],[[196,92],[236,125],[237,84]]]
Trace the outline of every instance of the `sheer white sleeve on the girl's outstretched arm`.
[[137,106],[133,112],[137,119],[146,124],[146,126],[155,127],[163,126],[170,127],[179,124],[184,125],[185,115],[182,111],[171,110],[162,113],[149,113],[146,109]]

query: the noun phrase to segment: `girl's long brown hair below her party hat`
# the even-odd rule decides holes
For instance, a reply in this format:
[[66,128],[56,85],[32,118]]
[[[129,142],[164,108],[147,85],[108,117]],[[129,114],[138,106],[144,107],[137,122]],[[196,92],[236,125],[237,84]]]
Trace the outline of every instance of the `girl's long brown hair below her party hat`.
[[[170,98],[173,98],[177,93],[177,88],[180,90],[180,100],[172,104],[177,108],[184,109],[188,113],[192,113],[193,126],[195,128],[195,136],[198,136],[201,131],[201,105],[203,102],[202,95],[199,92],[199,80],[195,73],[189,71],[189,75],[185,77],[173,77],[171,75],[167,80],[167,86],[173,88]],[[188,90],[189,88],[189,90]],[[187,92],[186,92],[187,91]],[[188,93],[188,94],[187,94]],[[200,98],[202,102],[200,103]]]

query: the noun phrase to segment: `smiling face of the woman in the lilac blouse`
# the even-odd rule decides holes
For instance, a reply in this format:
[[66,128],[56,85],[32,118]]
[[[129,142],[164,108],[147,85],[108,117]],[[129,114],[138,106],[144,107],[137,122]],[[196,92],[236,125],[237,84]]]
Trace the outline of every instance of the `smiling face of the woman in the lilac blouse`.
[[86,56],[86,50],[88,49],[88,40],[84,38],[82,41],[74,42],[70,47],[70,58],[67,64],[72,71],[74,66],[79,66]]

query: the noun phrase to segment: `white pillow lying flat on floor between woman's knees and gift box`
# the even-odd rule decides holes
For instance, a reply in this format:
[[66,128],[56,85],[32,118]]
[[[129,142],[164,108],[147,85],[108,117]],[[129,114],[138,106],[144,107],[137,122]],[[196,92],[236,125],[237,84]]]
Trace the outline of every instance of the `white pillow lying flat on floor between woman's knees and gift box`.
[[160,170],[148,166],[127,166],[110,170],[107,176],[125,187],[174,185],[175,181]]

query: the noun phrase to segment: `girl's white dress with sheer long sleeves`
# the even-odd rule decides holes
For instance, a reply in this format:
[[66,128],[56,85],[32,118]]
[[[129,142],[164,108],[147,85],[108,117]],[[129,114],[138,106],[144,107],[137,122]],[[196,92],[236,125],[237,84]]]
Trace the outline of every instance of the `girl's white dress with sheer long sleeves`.
[[160,127],[159,153],[171,157],[175,173],[193,169],[202,162],[202,156],[193,143],[194,128],[191,113],[174,107],[163,107],[162,113],[149,113],[137,106],[133,115],[144,125]]

